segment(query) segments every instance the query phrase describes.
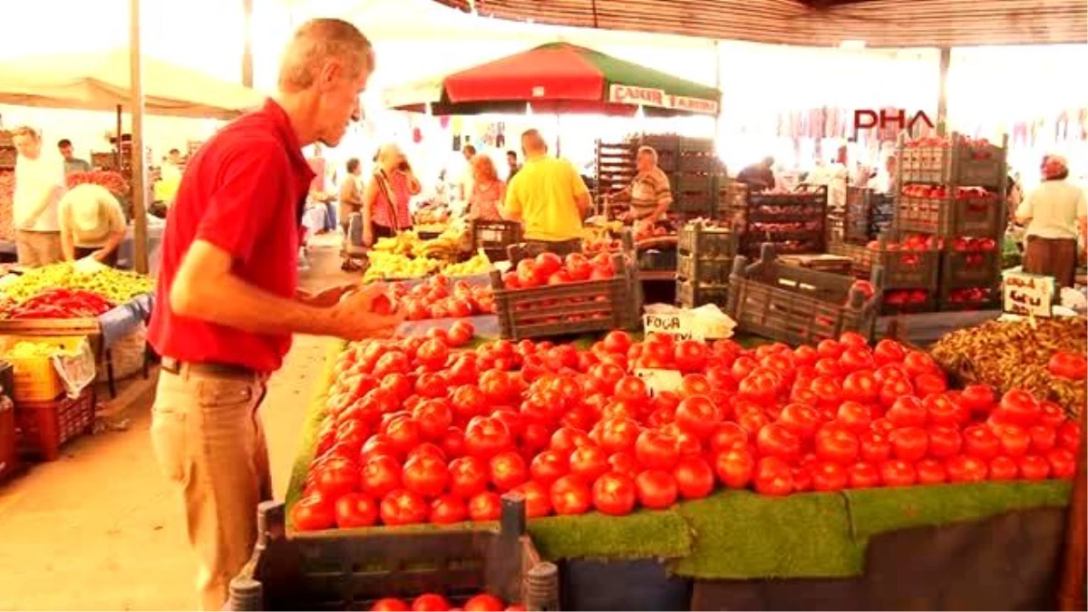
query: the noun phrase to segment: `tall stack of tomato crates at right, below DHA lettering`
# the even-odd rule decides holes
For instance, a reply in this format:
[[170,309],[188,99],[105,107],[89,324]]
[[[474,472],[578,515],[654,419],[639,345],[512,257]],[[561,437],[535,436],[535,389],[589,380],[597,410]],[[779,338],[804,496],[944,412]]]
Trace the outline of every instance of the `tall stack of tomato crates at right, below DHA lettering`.
[[1000,307],[1007,140],[900,140],[895,228],[941,249],[938,310]]

